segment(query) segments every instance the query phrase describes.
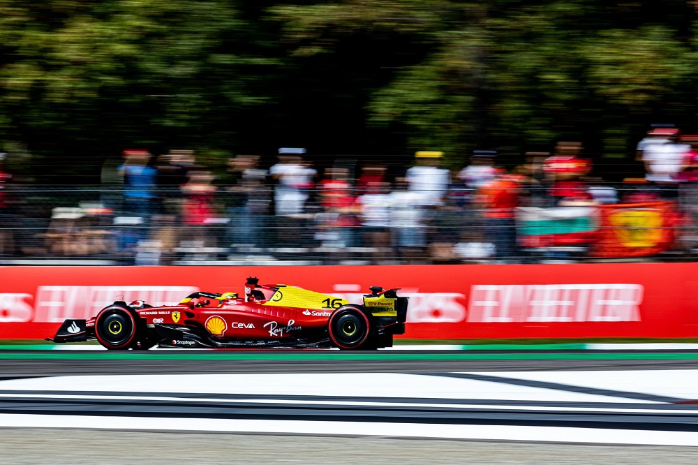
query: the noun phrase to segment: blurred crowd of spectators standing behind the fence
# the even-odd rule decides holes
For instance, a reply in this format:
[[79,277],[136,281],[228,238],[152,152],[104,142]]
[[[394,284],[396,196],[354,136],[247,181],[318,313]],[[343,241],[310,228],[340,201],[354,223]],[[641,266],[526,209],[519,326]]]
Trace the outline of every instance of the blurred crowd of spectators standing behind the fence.
[[[698,135],[674,127],[648,131],[636,158],[645,177],[621,184],[591,177],[580,142],[526,153],[513,166],[487,150],[457,168],[431,151],[399,167],[319,165],[306,155],[286,147],[275,163],[239,155],[211,167],[191,150],[128,149],[105,164],[100,188],[67,193],[13,185],[0,168],[0,256],[136,265],[588,260],[600,244],[603,206],[652,202],[671,205],[680,221],[638,225],[626,212],[625,223],[611,226],[628,237],[672,228],[662,252],[692,252]],[[628,247],[639,240],[632,237],[623,239]]]

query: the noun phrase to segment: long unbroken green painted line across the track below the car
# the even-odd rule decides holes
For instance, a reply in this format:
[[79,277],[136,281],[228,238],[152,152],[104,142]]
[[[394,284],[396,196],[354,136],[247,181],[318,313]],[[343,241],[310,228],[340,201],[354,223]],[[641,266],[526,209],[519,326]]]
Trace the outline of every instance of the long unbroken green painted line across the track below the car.
[[297,352],[279,353],[140,353],[140,352],[83,352],[68,350],[50,352],[0,353],[0,360],[698,360],[698,353],[350,353],[350,352]]

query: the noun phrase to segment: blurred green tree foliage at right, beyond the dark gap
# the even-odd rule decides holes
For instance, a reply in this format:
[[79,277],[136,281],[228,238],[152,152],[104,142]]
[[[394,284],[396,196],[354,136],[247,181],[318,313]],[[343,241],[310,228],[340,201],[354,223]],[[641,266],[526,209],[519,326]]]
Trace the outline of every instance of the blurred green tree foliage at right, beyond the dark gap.
[[371,121],[401,124],[414,147],[462,154],[574,138],[613,155],[651,122],[698,122],[687,3],[346,0],[274,13],[303,56],[357,35],[426,44],[369,102]]

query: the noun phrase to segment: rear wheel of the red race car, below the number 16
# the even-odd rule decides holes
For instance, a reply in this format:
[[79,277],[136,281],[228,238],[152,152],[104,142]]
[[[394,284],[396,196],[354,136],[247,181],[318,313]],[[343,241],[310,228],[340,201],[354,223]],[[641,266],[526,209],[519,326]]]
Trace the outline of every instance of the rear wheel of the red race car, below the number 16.
[[346,305],[332,313],[327,331],[332,343],[341,349],[371,348],[371,316],[358,305]]

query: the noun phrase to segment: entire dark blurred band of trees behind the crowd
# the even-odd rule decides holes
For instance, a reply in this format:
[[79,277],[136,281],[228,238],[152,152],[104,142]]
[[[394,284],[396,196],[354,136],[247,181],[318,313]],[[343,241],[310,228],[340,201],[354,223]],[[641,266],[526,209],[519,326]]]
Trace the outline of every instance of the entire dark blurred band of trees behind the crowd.
[[[580,140],[632,174],[648,125],[698,133],[694,1],[0,0],[0,147],[95,184],[124,148],[407,163]],[[390,158],[392,157],[392,158]],[[637,168],[637,167],[636,167]]]

